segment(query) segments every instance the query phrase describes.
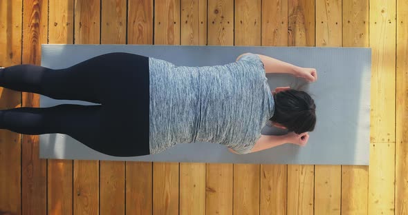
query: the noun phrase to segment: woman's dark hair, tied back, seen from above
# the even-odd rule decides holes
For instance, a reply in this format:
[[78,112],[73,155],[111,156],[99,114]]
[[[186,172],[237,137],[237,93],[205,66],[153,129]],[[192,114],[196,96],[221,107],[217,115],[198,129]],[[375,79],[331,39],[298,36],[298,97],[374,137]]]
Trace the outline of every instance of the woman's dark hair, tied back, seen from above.
[[270,121],[284,125],[289,132],[311,132],[316,125],[316,105],[303,91],[285,90],[274,96],[275,114]]

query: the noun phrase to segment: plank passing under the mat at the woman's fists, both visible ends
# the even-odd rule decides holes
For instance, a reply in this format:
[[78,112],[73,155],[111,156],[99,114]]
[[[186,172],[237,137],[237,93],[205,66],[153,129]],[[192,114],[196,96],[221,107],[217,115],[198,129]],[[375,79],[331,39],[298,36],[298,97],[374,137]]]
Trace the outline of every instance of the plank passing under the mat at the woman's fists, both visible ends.
[[[315,45],[315,1],[288,2],[288,45]],[[313,214],[315,167],[288,165],[288,214]]]

